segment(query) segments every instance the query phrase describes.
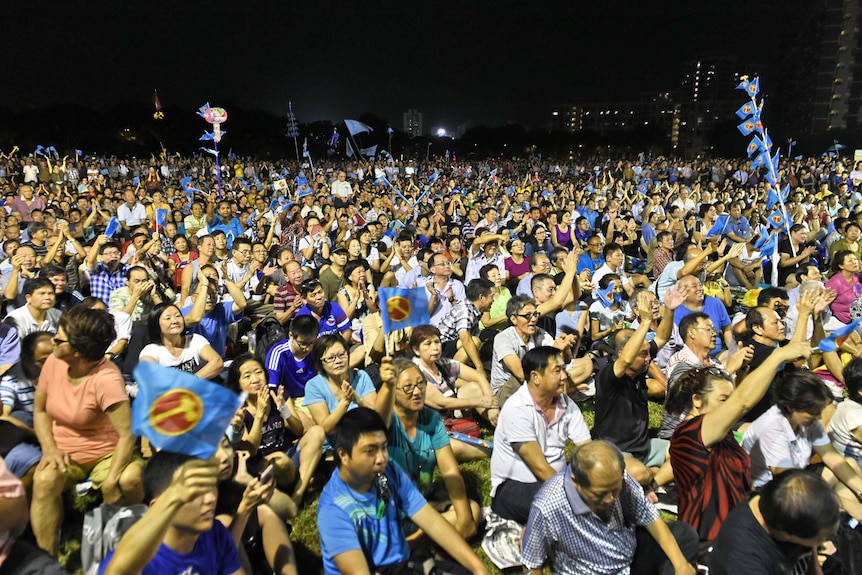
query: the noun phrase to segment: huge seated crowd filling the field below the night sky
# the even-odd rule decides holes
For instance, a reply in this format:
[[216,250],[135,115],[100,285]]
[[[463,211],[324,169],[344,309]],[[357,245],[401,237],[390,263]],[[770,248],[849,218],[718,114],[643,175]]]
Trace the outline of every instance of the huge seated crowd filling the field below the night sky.
[[[862,520],[862,162],[747,165],[0,156],[0,574],[62,572],[73,488],[151,506],[100,572],[302,572],[315,484],[325,573],[485,573],[491,521],[534,573],[818,572]],[[133,435],[140,362],[247,394],[212,460]]]

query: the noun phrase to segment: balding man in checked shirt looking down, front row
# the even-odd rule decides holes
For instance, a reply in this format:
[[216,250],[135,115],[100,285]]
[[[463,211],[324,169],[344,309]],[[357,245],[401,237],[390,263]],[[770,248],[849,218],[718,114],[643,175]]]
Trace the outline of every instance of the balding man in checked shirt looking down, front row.
[[575,448],[568,469],[536,495],[521,540],[521,560],[541,575],[691,574],[697,533],[683,522],[666,524],[643,489],[625,471],[613,444]]

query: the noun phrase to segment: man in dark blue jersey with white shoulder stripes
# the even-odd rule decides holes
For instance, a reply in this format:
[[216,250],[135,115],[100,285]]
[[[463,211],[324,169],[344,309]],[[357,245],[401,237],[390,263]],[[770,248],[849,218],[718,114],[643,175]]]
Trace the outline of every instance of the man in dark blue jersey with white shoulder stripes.
[[317,375],[311,350],[317,341],[320,325],[310,315],[290,322],[287,339],[276,343],[266,354],[266,370],[272,391],[282,388],[285,401],[293,402],[302,426],[307,431],[314,425],[308,408],[303,405],[305,384]]

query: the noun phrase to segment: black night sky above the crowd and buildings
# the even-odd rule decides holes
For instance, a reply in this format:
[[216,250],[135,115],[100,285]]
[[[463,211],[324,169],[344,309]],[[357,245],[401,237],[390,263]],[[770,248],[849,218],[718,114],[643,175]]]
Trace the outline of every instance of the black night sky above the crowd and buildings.
[[292,100],[300,122],[370,111],[400,128],[416,108],[426,131],[539,127],[571,98],[673,89],[706,51],[766,81],[806,1],[7,2],[0,105],[106,108],[157,88],[166,107]]

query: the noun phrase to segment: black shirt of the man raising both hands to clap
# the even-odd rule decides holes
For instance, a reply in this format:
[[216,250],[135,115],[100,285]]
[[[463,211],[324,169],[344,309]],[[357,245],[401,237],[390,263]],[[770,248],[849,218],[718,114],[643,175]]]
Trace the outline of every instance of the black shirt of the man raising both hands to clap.
[[[650,355],[656,346],[650,343]],[[614,375],[614,363],[601,368],[596,377],[596,423],[593,439],[610,441],[636,459],[649,455],[649,406],[646,370],[635,378]]]

